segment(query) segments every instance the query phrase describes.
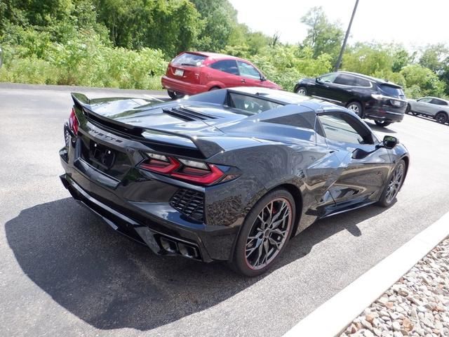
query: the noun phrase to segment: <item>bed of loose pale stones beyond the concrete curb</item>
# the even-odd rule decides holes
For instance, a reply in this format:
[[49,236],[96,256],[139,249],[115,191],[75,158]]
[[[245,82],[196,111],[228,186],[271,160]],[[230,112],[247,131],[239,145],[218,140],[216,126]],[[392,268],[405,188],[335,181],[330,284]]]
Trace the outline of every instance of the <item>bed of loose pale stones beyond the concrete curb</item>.
[[363,310],[340,335],[368,336],[449,336],[448,238]]

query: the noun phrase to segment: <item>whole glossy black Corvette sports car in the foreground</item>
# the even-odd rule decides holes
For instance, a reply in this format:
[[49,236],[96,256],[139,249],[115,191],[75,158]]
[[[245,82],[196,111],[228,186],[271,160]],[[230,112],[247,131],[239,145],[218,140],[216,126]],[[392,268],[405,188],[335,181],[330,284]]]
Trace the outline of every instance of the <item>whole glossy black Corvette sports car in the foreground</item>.
[[154,253],[260,275],[316,219],[390,206],[406,147],[344,107],[265,88],[74,106],[60,150],[72,196]]

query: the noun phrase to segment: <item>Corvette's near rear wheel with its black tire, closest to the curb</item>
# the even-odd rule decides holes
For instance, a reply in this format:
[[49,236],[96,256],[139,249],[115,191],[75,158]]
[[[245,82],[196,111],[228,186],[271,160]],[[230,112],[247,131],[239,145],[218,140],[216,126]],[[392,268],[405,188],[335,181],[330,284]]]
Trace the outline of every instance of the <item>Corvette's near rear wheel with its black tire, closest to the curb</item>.
[[[279,214],[277,218],[276,214]],[[270,223],[267,225],[267,222]],[[266,194],[253,206],[241,227],[232,269],[249,277],[266,272],[286,248],[294,223],[292,195],[284,189]]]

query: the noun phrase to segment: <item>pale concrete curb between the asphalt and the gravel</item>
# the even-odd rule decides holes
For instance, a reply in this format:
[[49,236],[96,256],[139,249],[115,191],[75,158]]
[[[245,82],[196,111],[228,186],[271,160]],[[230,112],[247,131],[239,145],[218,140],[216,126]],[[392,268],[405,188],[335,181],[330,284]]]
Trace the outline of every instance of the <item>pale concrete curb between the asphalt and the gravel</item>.
[[283,337],[338,336],[354,318],[448,235],[449,213],[445,213],[435,223],[304,317]]

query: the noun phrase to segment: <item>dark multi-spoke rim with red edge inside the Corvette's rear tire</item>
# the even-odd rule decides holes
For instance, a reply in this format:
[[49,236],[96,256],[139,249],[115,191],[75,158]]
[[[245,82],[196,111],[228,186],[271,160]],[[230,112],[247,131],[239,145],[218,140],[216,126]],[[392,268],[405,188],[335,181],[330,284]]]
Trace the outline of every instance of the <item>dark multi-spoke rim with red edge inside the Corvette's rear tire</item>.
[[289,237],[292,216],[292,206],[287,199],[274,199],[264,206],[246,238],[248,267],[262,269],[276,258]]

